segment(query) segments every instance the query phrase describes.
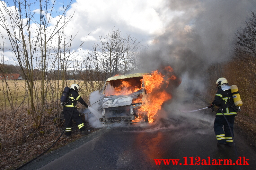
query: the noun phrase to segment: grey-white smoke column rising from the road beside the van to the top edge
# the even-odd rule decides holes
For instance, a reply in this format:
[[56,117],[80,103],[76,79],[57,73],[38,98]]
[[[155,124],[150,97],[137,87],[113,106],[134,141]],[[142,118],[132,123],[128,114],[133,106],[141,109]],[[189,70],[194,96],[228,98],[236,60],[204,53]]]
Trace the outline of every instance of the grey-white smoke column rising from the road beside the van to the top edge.
[[251,11],[255,12],[256,1],[168,2],[169,8],[182,11],[181,15],[173,18],[165,33],[155,37],[140,57],[141,72],[169,65],[182,78],[179,87],[171,91],[171,102],[166,102],[156,115],[156,121],[187,119],[190,120],[186,122],[188,127],[198,126],[201,122],[212,124],[214,113],[209,114],[207,109],[192,113],[181,111],[202,109],[211,102],[196,97],[204,98],[208,88],[205,81],[207,70],[214,63],[223,64],[230,60],[235,34],[243,27]]

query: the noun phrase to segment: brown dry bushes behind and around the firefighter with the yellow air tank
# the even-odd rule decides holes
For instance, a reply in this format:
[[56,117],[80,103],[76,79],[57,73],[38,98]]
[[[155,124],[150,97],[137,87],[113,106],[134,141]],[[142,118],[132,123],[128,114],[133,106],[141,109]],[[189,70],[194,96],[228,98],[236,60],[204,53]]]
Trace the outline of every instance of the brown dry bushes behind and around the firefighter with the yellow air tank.
[[239,58],[222,63],[221,67],[218,64],[211,66],[208,69],[207,99],[213,100],[216,93],[215,82],[221,77],[226,78],[230,86],[237,85],[243,105],[241,111],[237,112],[235,122],[244,130],[250,144],[256,146],[256,79],[248,68],[251,68],[248,62],[243,62]]

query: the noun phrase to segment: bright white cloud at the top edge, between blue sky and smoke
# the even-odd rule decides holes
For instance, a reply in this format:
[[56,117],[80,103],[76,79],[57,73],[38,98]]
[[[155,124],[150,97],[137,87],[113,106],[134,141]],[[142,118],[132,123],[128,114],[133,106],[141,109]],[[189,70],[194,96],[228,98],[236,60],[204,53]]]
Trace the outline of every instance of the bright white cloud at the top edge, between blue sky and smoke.
[[162,18],[165,17],[160,16],[157,10],[167,8],[162,0],[77,0],[72,8],[76,5],[74,17],[80,19],[80,24],[87,24],[86,27],[121,24],[123,27],[129,26],[149,34],[162,32],[164,26]]

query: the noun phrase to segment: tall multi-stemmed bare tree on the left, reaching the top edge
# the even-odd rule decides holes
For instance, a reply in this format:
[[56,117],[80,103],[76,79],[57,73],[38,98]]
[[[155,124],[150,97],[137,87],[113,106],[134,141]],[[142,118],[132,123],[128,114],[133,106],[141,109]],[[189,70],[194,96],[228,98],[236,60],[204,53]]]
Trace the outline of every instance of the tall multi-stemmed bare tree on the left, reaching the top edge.
[[[6,43],[20,66],[27,82],[30,112],[33,113],[34,126],[41,125],[43,110],[45,110],[45,74],[47,72],[47,61],[50,58],[52,39],[58,34],[59,30],[65,28],[63,18],[66,10],[72,1],[64,8],[63,12],[57,17],[56,22],[51,24],[52,9],[55,1],[38,1],[38,9],[34,3],[29,1],[14,0],[15,7],[8,7],[1,1],[0,27],[5,30],[9,42]],[[33,8],[34,7],[34,8]],[[39,13],[39,17],[37,15]],[[67,23],[67,22],[65,22]],[[35,66],[41,63],[41,94],[34,94],[35,87]],[[47,84],[47,83],[46,83]],[[41,101],[35,106],[35,97]]]

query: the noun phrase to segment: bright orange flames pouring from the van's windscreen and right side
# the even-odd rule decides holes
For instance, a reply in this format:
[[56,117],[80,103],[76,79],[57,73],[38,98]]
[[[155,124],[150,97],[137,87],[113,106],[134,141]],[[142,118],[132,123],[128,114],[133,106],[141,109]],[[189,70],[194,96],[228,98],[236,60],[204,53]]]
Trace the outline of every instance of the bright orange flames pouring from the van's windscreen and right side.
[[[139,116],[133,122],[139,122],[143,119],[143,115],[147,114],[149,123],[152,123],[162,104],[171,99],[171,94],[165,89],[168,88],[171,81],[175,81],[177,78],[173,73],[173,68],[170,66],[166,67],[164,71],[165,75],[155,70],[150,75],[143,76],[144,89],[147,94],[144,94],[146,95],[145,97],[141,95],[133,101],[133,103],[142,103],[142,106],[138,108]],[[135,86],[134,84],[136,83],[121,80],[121,84],[118,87],[114,87],[114,89],[111,89],[111,86],[107,87],[105,95],[127,95],[142,89],[142,80],[140,86]]]

